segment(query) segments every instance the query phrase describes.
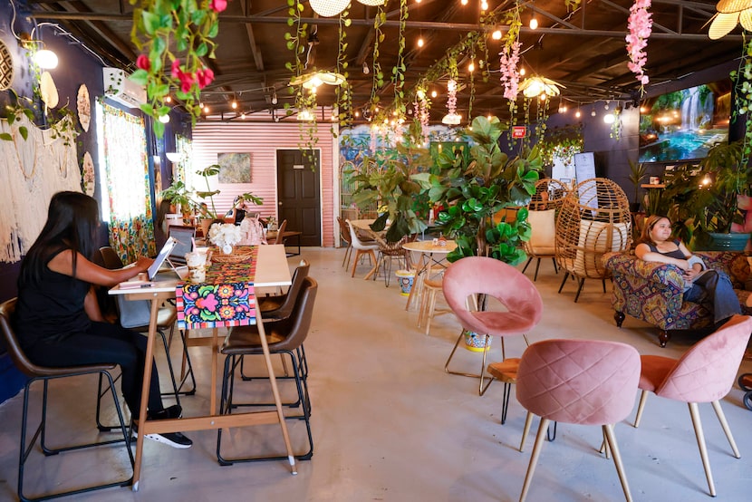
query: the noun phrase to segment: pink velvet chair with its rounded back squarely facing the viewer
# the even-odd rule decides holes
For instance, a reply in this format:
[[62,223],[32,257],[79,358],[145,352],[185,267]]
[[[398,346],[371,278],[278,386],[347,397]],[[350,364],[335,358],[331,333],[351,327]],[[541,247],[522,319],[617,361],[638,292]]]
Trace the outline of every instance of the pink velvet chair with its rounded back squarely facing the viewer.
[[534,413],[541,418],[541,424],[520,502],[530,488],[550,420],[601,425],[624,496],[631,500],[613,424],[630,414],[639,380],[640,354],[625,343],[545,340],[527,347],[517,371],[517,401],[528,410],[520,451]]

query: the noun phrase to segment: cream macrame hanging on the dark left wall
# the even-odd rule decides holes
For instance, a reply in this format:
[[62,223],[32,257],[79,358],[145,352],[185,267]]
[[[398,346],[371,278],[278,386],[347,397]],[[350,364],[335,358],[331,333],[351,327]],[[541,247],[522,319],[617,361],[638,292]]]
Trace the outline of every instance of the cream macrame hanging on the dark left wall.
[[34,244],[55,192],[81,191],[73,126],[60,130],[41,130],[25,116],[13,126],[0,120],[0,132],[12,138],[0,140],[0,262],[20,261]]

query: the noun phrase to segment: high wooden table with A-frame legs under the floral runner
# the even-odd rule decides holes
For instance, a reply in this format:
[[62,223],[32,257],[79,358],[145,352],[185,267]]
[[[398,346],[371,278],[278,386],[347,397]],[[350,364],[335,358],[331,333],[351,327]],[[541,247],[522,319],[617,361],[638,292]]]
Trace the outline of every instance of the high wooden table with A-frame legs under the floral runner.
[[[162,274],[174,274],[165,272]],[[148,291],[143,289],[123,290],[115,286],[110,290],[110,294],[126,294],[129,300],[150,300],[151,301],[151,321],[149,322],[149,337],[147,342],[146,363],[144,366],[143,388],[141,389],[141,403],[139,416],[147,416],[147,401],[149,400],[149,383],[151,381],[151,364],[154,360],[154,339],[157,334],[157,313],[159,305],[169,298],[174,298],[176,288],[181,286],[177,276],[175,278],[160,277],[161,280],[155,281],[155,286],[150,287]],[[290,269],[287,265],[287,259],[284,254],[284,246],[258,246],[258,255],[255,269],[255,287],[267,286],[284,286],[291,285]],[[210,345],[212,347],[211,361],[211,389],[210,389],[210,410],[206,416],[190,417],[177,420],[140,420],[139,438],[136,440],[136,458],[133,468],[133,491],[139,490],[141,458],[143,455],[143,439],[147,434],[190,431],[190,430],[212,430],[224,429],[230,427],[242,427],[257,424],[278,423],[282,429],[284,446],[287,449],[287,458],[289,459],[292,473],[297,474],[295,467],[295,458],[293,454],[290,437],[287,433],[287,426],[284,423],[284,412],[282,401],[280,401],[279,391],[277,390],[275,372],[272,368],[272,361],[269,356],[269,347],[266,343],[264,323],[262,323],[261,312],[255,311],[255,322],[258,325],[259,339],[266,363],[266,370],[269,374],[269,382],[272,386],[272,392],[275,396],[274,411],[255,411],[249,413],[233,413],[230,415],[217,414],[217,355],[218,355],[218,327],[212,330]]]

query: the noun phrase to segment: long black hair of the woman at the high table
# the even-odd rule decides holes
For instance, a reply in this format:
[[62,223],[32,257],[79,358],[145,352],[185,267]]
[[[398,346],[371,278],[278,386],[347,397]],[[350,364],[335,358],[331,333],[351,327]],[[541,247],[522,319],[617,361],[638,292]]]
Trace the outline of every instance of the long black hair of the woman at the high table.
[[50,200],[47,221],[39,237],[24,258],[19,282],[38,283],[53,253],[62,249],[73,252],[73,276],[76,256],[92,259],[95,251],[99,205],[96,199],[80,192],[58,192]]

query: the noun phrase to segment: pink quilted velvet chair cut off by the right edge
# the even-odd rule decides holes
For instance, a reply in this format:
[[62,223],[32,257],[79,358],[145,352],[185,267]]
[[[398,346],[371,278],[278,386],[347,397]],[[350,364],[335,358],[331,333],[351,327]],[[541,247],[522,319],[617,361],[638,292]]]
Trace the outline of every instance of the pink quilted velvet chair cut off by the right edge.
[[642,410],[648,397],[648,391],[656,396],[689,404],[689,415],[695,428],[699,447],[699,456],[708,478],[710,495],[716,496],[713,473],[710,471],[708,449],[705,435],[699,420],[699,402],[710,402],[716,410],[718,421],[726,433],[728,443],[734,451],[734,457],[740,457],[737,443],[728,428],[726,416],[720,408],[720,400],[728,394],[737,377],[739,364],[752,333],[752,317],[734,315],[728,323],[717,332],[695,343],[680,359],[671,359],[660,355],[642,356],[642,374],[640,377],[640,406],[634,419],[634,427],[640,425]]

